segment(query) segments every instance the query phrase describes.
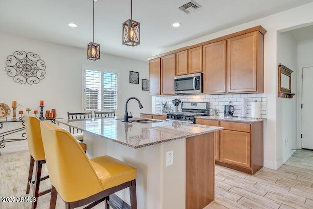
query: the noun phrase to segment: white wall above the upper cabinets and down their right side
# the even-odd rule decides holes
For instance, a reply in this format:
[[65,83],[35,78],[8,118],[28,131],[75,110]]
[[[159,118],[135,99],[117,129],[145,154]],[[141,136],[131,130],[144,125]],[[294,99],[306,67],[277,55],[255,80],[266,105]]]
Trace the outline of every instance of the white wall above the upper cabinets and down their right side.
[[[282,147],[277,139],[277,31],[299,27],[313,22],[313,3],[267,16],[249,23],[237,25],[226,30],[203,36],[189,42],[153,52],[157,55],[208,41],[220,36],[262,25],[268,32],[264,36],[264,93],[267,95],[267,120],[264,125],[264,166],[277,169],[282,164]],[[296,120],[296,118],[294,118]],[[279,147],[280,146],[280,147]]]

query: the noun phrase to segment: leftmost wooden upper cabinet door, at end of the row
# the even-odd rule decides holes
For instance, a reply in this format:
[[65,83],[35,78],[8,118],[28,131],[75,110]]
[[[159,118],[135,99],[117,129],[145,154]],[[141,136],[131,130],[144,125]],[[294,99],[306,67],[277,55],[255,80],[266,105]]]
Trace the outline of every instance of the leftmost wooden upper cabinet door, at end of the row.
[[160,95],[161,59],[149,61],[149,94]]

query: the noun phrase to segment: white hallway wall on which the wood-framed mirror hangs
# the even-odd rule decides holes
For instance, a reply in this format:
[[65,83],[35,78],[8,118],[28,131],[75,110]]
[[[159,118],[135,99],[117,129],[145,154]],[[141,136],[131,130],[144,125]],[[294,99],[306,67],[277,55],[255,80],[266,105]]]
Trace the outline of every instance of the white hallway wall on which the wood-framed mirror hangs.
[[282,156],[282,163],[285,163],[294,153],[292,149],[297,149],[297,59],[298,42],[291,35],[291,32],[278,33],[277,61],[293,70],[291,93],[296,93],[292,99],[277,97],[276,139],[278,149],[276,151],[278,156]]

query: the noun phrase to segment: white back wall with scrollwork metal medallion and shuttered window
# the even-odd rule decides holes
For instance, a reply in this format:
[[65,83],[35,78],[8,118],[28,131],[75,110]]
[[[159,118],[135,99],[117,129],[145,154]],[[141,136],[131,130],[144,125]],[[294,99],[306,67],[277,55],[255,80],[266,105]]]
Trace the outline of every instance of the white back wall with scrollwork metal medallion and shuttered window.
[[[86,43],[87,45],[88,43]],[[105,47],[105,46],[101,46]],[[125,46],[128,47],[128,46]],[[23,101],[25,112],[26,107],[32,110],[39,110],[39,101],[45,101],[45,110],[56,109],[57,116],[67,118],[67,111],[82,111],[82,65],[94,66],[97,68],[110,68],[120,71],[120,102],[119,110],[121,116],[125,111],[125,101],[131,96],[140,99],[144,106],[143,111],[151,110],[151,99],[148,91],[141,90],[141,79],[148,79],[148,64],[122,57],[101,54],[101,60],[87,60],[87,52],[84,49],[69,47],[50,42],[44,42],[12,34],[0,33],[0,102],[10,107],[12,101]],[[13,81],[4,70],[7,56],[15,51],[24,50],[34,52],[45,61],[46,75],[39,84],[20,84]],[[129,83],[129,71],[140,73],[139,84]],[[139,116],[139,107],[136,101],[129,102],[129,111],[134,116]],[[11,114],[12,116],[12,114]],[[11,120],[11,117],[9,120]],[[2,120],[1,120],[2,121]],[[17,124],[15,124],[17,125]],[[21,125],[21,124],[20,124]],[[11,124],[12,126],[12,124]],[[4,124],[0,132],[9,127]],[[27,147],[26,141],[6,143],[2,152],[14,151]]]

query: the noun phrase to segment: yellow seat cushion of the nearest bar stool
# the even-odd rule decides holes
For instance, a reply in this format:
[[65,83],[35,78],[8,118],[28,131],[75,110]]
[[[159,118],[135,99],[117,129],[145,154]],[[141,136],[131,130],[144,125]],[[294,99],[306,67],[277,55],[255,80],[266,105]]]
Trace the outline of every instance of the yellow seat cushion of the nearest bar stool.
[[132,181],[137,176],[136,168],[107,155],[92,158],[90,163],[104,190]]

